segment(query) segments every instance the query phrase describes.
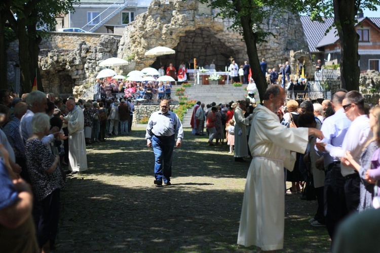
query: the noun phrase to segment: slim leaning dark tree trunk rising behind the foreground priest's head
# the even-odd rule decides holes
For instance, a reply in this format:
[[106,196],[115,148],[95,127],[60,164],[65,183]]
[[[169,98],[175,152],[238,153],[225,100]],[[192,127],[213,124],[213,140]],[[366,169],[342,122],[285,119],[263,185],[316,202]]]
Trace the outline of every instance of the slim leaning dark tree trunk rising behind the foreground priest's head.
[[251,18],[250,16],[241,16],[241,25],[243,28],[243,36],[245,45],[247,46],[247,55],[249,59],[249,65],[251,66],[252,77],[255,80],[258,94],[260,96],[260,101],[263,101],[265,91],[267,90],[267,80],[265,80],[262,74],[260,61],[257,54],[257,35],[252,31]]

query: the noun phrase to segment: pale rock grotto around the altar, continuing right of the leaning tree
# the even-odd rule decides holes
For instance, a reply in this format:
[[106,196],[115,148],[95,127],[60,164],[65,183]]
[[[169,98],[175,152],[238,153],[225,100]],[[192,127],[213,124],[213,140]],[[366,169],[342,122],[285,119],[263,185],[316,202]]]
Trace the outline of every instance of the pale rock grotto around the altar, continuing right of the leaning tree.
[[[146,13],[136,16],[135,21],[126,27],[119,57],[134,59],[137,69],[151,64],[157,67],[160,61],[166,65],[171,62],[177,67],[180,61],[189,63],[193,58],[198,58],[201,65],[205,60],[211,63],[216,58],[216,66],[223,69],[231,56],[239,65],[243,64],[248,57],[242,36],[228,29],[232,20],[214,18],[215,14],[216,10],[200,5],[196,0],[154,0]],[[279,63],[289,60],[290,50],[308,50],[299,30],[298,15],[274,14],[261,25],[265,31],[274,34],[266,38],[268,43],[258,46],[259,58],[264,57],[268,67],[278,68]],[[203,38],[209,41],[205,43]],[[147,50],[157,46],[175,49],[178,54],[145,57]],[[221,48],[220,55],[213,53],[215,47]]]

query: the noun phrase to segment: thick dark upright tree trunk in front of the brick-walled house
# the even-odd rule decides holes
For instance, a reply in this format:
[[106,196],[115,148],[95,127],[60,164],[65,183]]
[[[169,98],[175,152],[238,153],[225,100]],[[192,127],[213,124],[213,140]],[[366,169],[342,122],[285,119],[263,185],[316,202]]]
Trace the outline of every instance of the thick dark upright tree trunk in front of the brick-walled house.
[[355,30],[355,0],[333,0],[334,21],[340,39],[340,87],[359,91],[359,35]]

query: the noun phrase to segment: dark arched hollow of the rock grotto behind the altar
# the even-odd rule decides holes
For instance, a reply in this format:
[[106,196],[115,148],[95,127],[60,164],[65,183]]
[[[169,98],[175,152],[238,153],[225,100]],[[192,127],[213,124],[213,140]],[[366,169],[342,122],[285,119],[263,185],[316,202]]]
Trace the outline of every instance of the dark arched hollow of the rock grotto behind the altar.
[[157,57],[151,66],[160,68],[161,64],[169,66],[169,63],[173,63],[177,68],[183,61],[188,68],[193,68],[194,58],[197,58],[200,66],[205,66],[205,62],[210,64],[214,61],[216,69],[224,70],[226,64],[230,62],[229,58],[235,54],[208,27],[186,31],[185,35],[179,37],[179,43],[173,49],[176,52],[174,55]]

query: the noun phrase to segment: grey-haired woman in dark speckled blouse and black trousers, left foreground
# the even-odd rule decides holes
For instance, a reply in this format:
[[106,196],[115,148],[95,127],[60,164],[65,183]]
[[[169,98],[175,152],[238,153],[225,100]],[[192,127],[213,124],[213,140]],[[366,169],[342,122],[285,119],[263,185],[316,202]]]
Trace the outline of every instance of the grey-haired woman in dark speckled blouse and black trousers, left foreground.
[[59,221],[60,190],[63,178],[59,170],[59,157],[53,155],[42,142],[50,129],[46,113],[35,113],[31,120],[33,134],[25,143],[28,174],[40,210],[37,239],[41,250],[49,252],[54,245]]

